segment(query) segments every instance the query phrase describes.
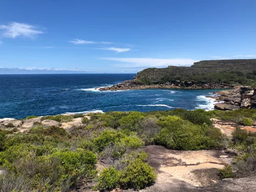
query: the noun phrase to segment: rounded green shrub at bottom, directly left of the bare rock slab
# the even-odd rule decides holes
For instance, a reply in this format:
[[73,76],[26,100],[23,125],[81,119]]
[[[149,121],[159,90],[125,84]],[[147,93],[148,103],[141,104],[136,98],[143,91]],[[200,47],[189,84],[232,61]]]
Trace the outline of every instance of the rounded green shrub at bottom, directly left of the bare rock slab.
[[119,182],[122,188],[142,189],[152,185],[156,178],[155,169],[141,159],[136,159],[121,170]]

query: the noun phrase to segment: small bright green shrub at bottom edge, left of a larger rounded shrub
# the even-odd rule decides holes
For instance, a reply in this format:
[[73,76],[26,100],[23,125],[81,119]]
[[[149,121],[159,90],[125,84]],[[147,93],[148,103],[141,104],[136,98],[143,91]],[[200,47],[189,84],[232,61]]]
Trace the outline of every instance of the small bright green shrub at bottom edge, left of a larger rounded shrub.
[[119,172],[114,167],[104,168],[100,172],[95,189],[111,190],[118,187]]

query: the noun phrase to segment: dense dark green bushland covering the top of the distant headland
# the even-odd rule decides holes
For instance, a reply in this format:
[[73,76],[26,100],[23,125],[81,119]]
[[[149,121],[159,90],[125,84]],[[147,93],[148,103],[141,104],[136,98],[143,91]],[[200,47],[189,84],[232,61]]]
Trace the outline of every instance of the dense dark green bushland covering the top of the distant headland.
[[256,59],[205,60],[191,67],[149,68],[137,74],[143,84],[193,83],[248,84],[256,82]]

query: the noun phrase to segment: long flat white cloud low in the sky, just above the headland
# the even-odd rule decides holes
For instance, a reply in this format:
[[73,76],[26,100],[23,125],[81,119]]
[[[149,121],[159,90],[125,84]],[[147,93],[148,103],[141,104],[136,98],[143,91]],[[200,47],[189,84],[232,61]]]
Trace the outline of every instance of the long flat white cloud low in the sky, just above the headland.
[[118,64],[117,67],[139,68],[139,67],[167,67],[167,66],[191,66],[199,60],[194,59],[159,59],[159,58],[117,58],[102,57],[100,59],[125,62],[126,64]]

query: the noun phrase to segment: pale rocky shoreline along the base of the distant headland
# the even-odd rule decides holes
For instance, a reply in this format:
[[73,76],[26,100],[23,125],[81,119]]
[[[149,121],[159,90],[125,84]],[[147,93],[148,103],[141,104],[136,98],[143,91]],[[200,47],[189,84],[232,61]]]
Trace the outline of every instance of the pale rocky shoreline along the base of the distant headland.
[[174,83],[166,82],[165,84],[145,85],[136,80],[126,80],[115,84],[111,87],[99,88],[99,91],[120,91],[120,90],[139,90],[153,88],[169,88],[169,89],[232,89],[234,86],[230,84],[193,84],[192,82],[175,81]]

